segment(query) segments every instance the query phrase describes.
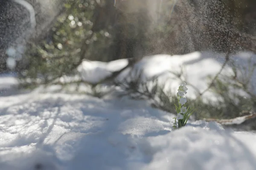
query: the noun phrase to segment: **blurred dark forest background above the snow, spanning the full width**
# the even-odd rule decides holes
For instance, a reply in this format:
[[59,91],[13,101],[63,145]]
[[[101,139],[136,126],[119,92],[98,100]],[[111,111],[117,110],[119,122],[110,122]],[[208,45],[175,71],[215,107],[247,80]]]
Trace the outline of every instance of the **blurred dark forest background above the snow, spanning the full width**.
[[[22,88],[73,76],[84,60],[128,58],[134,64],[154,54],[256,53],[254,0],[25,1],[30,5],[19,5],[17,1],[24,2],[0,3],[0,72],[15,71]],[[137,92],[136,81],[126,90]],[[221,89],[225,105],[220,108],[196,101],[193,106],[201,108],[198,117],[232,118],[240,116],[241,111],[255,109],[255,95],[251,99],[241,96],[238,106],[243,107],[234,106],[229,84],[213,81]],[[96,85],[91,86],[94,96],[104,95],[95,90]],[[151,94],[158,88],[145,94],[154,96]],[[159,96],[163,105],[156,107],[173,112],[176,97],[172,100],[163,91]]]

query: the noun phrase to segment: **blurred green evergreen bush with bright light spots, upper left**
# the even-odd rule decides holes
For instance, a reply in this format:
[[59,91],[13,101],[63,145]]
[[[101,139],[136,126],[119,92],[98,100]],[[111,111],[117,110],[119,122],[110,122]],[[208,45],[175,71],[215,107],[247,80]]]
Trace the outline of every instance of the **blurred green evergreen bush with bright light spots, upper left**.
[[104,54],[111,45],[107,28],[93,31],[94,0],[67,0],[64,8],[45,40],[29,43],[29,65],[21,78],[35,81],[40,77],[43,83],[49,83],[72,73],[82,59]]

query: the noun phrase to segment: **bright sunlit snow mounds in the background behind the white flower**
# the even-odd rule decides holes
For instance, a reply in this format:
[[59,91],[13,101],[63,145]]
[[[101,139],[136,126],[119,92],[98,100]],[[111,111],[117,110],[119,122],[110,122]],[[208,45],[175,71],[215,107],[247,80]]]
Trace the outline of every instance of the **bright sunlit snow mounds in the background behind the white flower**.
[[[238,68],[238,78],[241,82],[250,74],[251,68],[256,66],[256,56],[248,53],[241,52],[233,55],[231,59],[234,65]],[[176,76],[182,73],[182,81],[188,84],[187,97],[195,99],[199,93],[208,88],[211,79],[220,70],[225,61],[225,54],[209,53],[209,52],[193,52],[185,55],[170,56],[167,54],[158,54],[154,56],[146,56],[138,62],[133,68],[128,68],[123,71],[116,81],[121,81],[128,77],[128,75],[136,77],[138,72],[143,71],[141,79],[145,80],[154,76],[159,77],[159,82],[166,85],[166,90],[176,94],[177,87],[180,85],[181,80]],[[82,79],[87,82],[96,83],[104,77],[111,74],[111,71],[119,70],[128,61],[125,59],[116,60],[114,62],[105,63],[98,61],[84,61],[79,66],[78,70],[82,75]],[[129,74],[131,71],[132,74]],[[176,75],[175,75],[176,74]],[[231,65],[226,67],[221,72],[221,75],[232,76],[233,69]],[[256,94],[256,70],[252,71],[250,78],[251,91]],[[234,90],[234,93],[246,93]],[[213,101],[220,99],[216,94],[207,91],[202,96],[205,101]]]

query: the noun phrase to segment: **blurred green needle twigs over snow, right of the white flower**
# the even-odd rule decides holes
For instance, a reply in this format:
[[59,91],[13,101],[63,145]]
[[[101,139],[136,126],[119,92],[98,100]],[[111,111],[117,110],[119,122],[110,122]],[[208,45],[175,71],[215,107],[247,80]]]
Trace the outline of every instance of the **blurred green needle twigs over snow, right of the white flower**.
[[[238,77],[236,74],[247,72],[247,75]],[[256,109],[256,96],[251,92],[250,74],[253,68],[233,68],[234,77],[218,77],[209,89],[219,96],[215,103],[203,102],[198,99],[192,102],[194,108],[200,109],[196,114],[197,118],[231,119],[241,116],[244,111],[254,111]],[[242,81],[241,81],[242,78]]]

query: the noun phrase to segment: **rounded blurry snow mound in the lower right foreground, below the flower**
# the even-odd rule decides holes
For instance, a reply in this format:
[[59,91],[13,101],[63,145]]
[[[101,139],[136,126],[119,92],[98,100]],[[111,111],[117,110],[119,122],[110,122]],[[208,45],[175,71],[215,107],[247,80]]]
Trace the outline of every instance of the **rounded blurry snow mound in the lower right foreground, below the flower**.
[[149,137],[143,150],[149,153],[150,161],[140,164],[141,169],[255,169],[255,150],[251,150],[250,143],[255,136],[250,136],[247,143],[234,133],[219,130],[218,125],[211,123],[208,126],[210,130],[184,127],[168,135]]

